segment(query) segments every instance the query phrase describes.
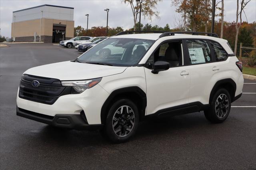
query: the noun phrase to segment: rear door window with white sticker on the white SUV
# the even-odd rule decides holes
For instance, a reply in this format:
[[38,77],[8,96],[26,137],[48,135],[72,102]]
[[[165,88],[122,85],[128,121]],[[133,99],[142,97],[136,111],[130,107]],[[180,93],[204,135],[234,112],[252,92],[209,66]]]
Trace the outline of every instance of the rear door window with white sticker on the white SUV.
[[211,51],[206,40],[186,40],[190,64],[207,63],[212,61]]

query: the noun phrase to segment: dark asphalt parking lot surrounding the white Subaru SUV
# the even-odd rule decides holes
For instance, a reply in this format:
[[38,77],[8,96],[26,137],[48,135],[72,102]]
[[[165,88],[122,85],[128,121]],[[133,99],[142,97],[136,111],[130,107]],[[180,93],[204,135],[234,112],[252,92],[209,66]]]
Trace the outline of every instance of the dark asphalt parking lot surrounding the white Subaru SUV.
[[255,169],[256,81],[228,119],[211,124],[193,113],[141,122],[136,136],[112,144],[98,131],[52,128],[16,116],[22,73],[38,65],[72,60],[81,53],[52,43],[11,44],[0,49],[1,169]]

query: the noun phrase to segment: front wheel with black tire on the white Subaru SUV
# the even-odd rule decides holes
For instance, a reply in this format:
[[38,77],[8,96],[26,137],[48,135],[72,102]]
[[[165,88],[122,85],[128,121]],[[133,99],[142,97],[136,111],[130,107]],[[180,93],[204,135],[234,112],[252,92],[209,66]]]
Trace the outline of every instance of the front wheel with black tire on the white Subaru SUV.
[[119,99],[110,107],[105,126],[101,132],[110,141],[122,143],[134,136],[138,123],[137,106],[129,99]]

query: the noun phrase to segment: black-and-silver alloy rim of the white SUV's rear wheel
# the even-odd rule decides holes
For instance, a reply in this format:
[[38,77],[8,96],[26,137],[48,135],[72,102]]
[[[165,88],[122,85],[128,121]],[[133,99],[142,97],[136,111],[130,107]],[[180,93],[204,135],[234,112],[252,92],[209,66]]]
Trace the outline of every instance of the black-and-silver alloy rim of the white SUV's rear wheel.
[[215,113],[218,118],[222,119],[228,113],[228,97],[225,94],[220,94],[215,102]]

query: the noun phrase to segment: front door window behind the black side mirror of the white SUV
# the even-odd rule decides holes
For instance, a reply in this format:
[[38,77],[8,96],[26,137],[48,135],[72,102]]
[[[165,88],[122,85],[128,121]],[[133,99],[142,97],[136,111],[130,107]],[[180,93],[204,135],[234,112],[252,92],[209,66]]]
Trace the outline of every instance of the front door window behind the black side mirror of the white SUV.
[[154,53],[154,62],[166,61],[170,63],[170,67],[182,65],[182,42],[166,42],[160,45]]

